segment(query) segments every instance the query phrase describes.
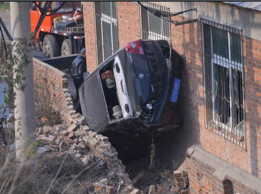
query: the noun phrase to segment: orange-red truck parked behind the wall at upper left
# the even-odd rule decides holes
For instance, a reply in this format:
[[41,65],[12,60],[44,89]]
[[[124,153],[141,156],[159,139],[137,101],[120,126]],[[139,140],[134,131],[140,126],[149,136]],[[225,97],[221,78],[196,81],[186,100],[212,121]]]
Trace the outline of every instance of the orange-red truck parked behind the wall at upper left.
[[[45,1],[37,1],[41,8]],[[62,1],[53,1],[50,9],[54,10]],[[31,4],[31,31],[34,32],[40,18],[40,10]],[[81,1],[66,1],[53,15],[46,16],[37,32],[37,46],[47,58],[77,54],[85,47],[84,24],[82,20],[69,20],[75,11],[81,9]]]

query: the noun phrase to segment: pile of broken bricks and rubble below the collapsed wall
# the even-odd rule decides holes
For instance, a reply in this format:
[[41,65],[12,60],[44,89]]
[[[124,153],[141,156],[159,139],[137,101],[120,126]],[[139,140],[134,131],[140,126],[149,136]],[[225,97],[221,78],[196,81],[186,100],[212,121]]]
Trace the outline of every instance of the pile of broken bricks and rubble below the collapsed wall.
[[[98,135],[87,125],[84,125],[84,116],[77,114],[71,126],[58,124],[53,127],[43,126],[37,128],[38,154],[60,152],[75,155],[84,165],[98,162],[98,165],[107,165],[110,170],[106,179],[96,183],[96,194],[113,194],[117,184],[118,193],[129,193],[134,188],[129,175],[125,173],[126,167],[118,159],[116,149],[112,147],[109,138]],[[119,186],[118,186],[119,183]],[[114,189],[115,190],[115,189]],[[127,191],[128,190],[128,191]]]

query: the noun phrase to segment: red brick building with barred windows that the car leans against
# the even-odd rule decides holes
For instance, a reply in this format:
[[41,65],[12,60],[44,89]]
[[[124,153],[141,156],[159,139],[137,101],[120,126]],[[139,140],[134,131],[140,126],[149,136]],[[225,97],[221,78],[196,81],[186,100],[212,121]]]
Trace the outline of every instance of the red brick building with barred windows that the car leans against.
[[[84,2],[88,71],[128,41],[167,39],[185,60],[179,96],[185,123],[182,129],[162,136],[169,142],[162,149],[181,165],[186,150],[199,144],[233,168],[261,177],[261,3],[255,3],[143,2],[163,13],[197,8],[167,19],[198,22],[175,25],[134,1]],[[201,171],[205,177],[211,174]],[[192,185],[207,182],[200,174],[188,172]],[[221,183],[224,191],[225,180]]]

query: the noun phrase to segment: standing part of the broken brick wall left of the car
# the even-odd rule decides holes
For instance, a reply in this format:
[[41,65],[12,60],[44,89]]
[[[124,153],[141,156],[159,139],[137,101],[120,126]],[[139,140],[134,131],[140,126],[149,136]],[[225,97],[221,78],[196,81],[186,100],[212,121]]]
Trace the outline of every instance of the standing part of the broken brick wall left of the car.
[[73,123],[75,114],[67,76],[60,70],[33,58],[35,92],[50,99],[52,107],[60,112],[66,124]]

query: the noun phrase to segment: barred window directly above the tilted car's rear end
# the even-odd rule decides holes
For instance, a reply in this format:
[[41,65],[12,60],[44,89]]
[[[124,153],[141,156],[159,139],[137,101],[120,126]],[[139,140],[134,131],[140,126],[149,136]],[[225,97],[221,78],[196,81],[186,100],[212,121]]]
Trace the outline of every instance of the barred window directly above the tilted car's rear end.
[[[169,8],[142,1],[144,6],[169,13]],[[157,17],[141,7],[141,31],[142,39],[166,39],[170,42],[170,22]]]

